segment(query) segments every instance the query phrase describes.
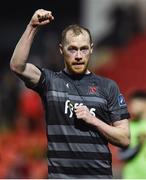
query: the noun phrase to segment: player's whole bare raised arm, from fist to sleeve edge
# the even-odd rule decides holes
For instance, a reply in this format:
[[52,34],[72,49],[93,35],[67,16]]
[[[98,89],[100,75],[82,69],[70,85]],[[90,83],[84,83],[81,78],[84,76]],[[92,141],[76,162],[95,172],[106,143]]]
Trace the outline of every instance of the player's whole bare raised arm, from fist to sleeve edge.
[[44,9],[35,11],[26,30],[18,41],[10,60],[11,70],[22,80],[32,85],[38,83],[41,71],[35,65],[27,63],[30,48],[38,28],[50,23],[53,19],[51,11]]

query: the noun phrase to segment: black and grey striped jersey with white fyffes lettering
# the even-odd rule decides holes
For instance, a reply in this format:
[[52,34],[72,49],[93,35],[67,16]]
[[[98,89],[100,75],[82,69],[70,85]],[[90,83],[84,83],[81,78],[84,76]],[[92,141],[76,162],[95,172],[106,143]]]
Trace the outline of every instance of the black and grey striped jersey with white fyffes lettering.
[[129,118],[117,84],[94,73],[68,75],[42,69],[37,91],[44,103],[48,137],[48,178],[112,178],[106,138],[76,118],[74,107],[86,105],[107,124]]

